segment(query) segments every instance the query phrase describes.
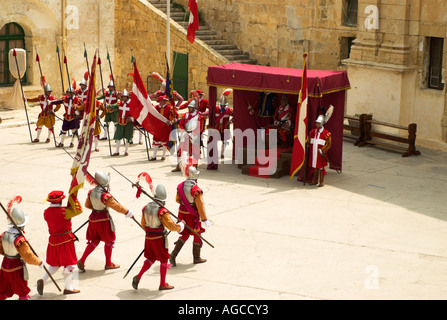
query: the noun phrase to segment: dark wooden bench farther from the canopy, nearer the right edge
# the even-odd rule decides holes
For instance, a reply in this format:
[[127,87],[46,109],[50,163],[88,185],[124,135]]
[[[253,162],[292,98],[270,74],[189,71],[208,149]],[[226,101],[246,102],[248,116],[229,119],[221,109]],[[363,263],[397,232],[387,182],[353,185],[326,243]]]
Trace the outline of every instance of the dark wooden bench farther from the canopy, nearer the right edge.
[[[382,122],[372,119],[372,115],[362,114],[359,118],[359,125],[361,127],[361,131],[363,131],[363,137],[359,138],[359,147],[364,147],[368,144],[377,145],[381,147],[391,148],[395,150],[404,151],[402,157],[409,157],[412,155],[419,156],[421,153],[416,150],[416,132],[417,132],[417,124],[412,123],[408,127],[396,125],[388,122]],[[408,133],[407,137],[379,132],[374,130],[375,127],[382,126],[393,129],[398,129],[402,131],[406,131]],[[362,134],[361,134],[362,135]],[[376,138],[373,140],[373,138]],[[379,140],[377,140],[379,139]],[[384,142],[390,141],[390,142]],[[408,147],[402,146],[400,144],[407,144]]]

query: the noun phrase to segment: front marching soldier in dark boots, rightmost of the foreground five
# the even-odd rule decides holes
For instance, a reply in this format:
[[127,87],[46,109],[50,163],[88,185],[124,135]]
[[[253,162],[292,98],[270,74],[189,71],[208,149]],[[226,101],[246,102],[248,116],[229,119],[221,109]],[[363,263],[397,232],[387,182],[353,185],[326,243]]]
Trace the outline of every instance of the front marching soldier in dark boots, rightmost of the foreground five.
[[[177,195],[175,200],[180,204],[179,206],[179,219],[182,219],[186,224],[198,234],[205,232],[202,227],[202,222],[208,228],[211,226],[203,202],[203,190],[197,185],[197,179],[200,172],[194,165],[186,165],[184,173],[187,179],[177,186]],[[193,235],[193,262],[203,263],[206,259],[200,257],[200,251],[203,245],[202,239],[192,233],[188,228],[184,229],[180,233],[181,236],[175,243],[174,250],[171,252],[169,262],[172,266],[176,266],[176,257],[182,249],[185,242]]]

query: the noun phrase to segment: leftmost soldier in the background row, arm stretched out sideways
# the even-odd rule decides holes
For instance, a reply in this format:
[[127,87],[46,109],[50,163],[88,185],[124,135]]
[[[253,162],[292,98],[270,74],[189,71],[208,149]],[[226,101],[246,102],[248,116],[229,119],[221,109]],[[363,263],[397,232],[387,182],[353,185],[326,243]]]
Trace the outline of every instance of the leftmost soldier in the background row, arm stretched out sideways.
[[54,112],[57,112],[59,108],[53,111],[51,101],[57,100],[57,98],[51,95],[52,90],[48,83],[45,85],[44,91],[45,94],[41,94],[35,98],[28,98],[26,100],[30,102],[39,102],[40,108],[42,110],[39,113],[36,124],[37,137],[33,140],[33,142],[39,142],[40,134],[42,133],[42,127],[45,126],[48,128],[48,137],[45,142],[49,143],[51,141],[50,136],[54,132],[54,124],[56,123]]

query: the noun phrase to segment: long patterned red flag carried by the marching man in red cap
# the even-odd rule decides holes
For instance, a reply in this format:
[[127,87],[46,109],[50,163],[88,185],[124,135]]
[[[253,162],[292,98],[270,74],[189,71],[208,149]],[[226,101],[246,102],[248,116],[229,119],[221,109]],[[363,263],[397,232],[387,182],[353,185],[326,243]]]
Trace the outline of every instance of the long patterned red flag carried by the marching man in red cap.
[[95,98],[95,79],[96,79],[96,56],[93,58],[91,81],[88,85],[88,95],[85,102],[84,117],[79,134],[79,144],[76,150],[76,156],[73,160],[71,175],[73,176],[70,184],[68,196],[67,217],[74,217],[82,213],[77,196],[78,191],[84,186],[87,168],[90,163],[91,149],[96,124],[96,98]]

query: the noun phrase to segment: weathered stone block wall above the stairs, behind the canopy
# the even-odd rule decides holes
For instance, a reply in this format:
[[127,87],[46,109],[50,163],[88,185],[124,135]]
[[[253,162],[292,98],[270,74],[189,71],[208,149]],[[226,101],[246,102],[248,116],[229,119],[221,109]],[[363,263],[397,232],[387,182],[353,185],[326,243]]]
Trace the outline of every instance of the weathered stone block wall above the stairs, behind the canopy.
[[[176,0],[188,9],[188,0]],[[342,37],[356,28],[342,23],[342,0],[200,1],[208,25],[250,53],[262,65],[301,68],[309,53],[313,69],[343,69]]]

